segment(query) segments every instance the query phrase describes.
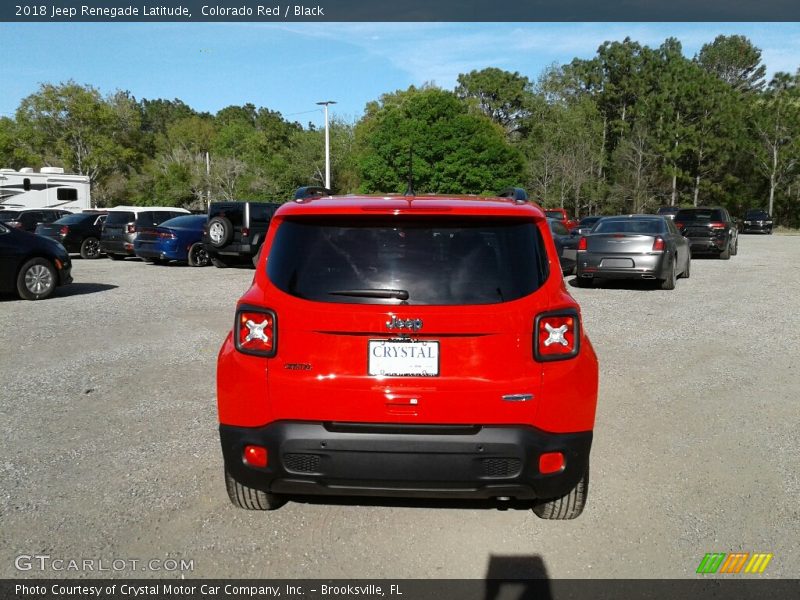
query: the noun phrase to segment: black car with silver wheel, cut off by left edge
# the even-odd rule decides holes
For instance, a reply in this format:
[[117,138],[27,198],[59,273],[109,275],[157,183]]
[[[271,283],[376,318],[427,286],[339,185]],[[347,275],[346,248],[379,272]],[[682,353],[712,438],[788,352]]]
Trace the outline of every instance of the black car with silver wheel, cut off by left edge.
[[72,263],[64,246],[46,237],[0,223],[0,292],[42,300],[56,286],[72,282]]

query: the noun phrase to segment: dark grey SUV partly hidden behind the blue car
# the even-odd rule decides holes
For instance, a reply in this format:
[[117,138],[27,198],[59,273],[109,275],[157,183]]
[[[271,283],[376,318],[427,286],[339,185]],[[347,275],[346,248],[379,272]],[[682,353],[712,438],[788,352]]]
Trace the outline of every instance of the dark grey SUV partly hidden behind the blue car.
[[184,208],[168,206],[117,206],[108,210],[100,237],[100,249],[112,260],[133,256],[133,243],[142,227],[155,227],[180,215]]

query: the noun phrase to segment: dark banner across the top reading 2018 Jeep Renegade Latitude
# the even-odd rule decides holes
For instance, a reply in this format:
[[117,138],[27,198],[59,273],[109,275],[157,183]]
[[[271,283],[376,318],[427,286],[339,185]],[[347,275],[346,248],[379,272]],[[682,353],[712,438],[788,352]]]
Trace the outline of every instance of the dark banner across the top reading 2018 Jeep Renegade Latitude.
[[22,0],[6,22],[800,21],[798,0]]

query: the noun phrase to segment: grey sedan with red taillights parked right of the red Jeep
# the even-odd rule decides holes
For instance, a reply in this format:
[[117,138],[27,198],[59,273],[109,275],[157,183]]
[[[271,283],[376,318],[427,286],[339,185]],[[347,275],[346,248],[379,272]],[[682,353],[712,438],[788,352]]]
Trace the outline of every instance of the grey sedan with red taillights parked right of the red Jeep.
[[657,215],[603,217],[578,241],[576,284],[598,279],[654,279],[675,289],[689,277],[689,242],[670,219]]

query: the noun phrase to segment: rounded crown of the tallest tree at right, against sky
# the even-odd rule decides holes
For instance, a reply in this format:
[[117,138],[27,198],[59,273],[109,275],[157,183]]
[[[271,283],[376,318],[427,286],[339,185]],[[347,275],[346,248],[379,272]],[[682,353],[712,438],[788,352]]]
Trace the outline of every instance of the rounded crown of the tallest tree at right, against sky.
[[761,64],[761,50],[743,35],[717,36],[700,49],[696,60],[707,72],[739,92],[764,87],[767,68]]

